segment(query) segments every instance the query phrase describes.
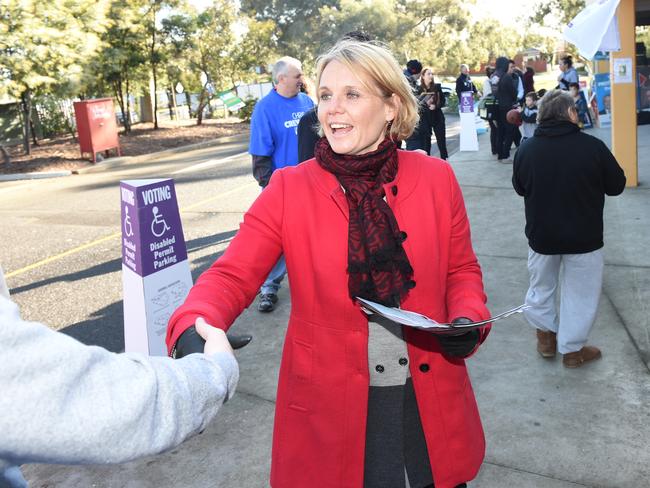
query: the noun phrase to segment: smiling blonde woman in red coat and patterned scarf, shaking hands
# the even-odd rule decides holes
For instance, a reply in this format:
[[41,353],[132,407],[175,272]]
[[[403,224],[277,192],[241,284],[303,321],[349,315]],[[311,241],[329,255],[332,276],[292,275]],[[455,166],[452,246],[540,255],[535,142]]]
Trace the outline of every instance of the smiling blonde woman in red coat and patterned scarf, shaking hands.
[[485,450],[464,358],[489,329],[440,337],[354,300],[439,322],[489,317],[460,188],[447,163],[392,142],[412,132],[417,102],[388,50],[338,43],[317,90],[316,157],[274,173],[171,317],[167,344],[191,350],[198,317],[227,330],[284,254],[292,309],[271,485],[464,486]]

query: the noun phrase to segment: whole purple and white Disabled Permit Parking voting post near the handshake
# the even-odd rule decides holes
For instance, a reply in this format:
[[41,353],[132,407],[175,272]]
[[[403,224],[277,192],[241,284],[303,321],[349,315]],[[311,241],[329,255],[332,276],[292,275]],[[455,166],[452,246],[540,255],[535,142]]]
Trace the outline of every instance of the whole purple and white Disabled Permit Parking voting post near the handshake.
[[166,356],[167,322],[192,287],[174,181],[122,181],[120,196],[124,349]]

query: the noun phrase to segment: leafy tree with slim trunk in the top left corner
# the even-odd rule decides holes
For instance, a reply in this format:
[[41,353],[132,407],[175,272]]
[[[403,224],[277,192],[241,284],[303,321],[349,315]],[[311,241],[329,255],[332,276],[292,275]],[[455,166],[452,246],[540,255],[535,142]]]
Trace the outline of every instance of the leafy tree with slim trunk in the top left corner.
[[32,98],[79,89],[100,46],[108,0],[3,0],[0,3],[0,89],[20,99],[23,145],[31,153]]

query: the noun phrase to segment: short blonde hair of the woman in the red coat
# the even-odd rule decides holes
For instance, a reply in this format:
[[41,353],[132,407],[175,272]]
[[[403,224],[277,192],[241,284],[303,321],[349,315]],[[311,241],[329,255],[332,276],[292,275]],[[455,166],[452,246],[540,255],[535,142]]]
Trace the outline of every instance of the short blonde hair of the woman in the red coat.
[[[418,102],[411,85],[402,73],[395,57],[385,46],[376,42],[343,39],[318,58],[316,87],[320,86],[323,70],[332,61],[338,61],[353,73],[361,71],[373,86],[360,77],[366,88],[379,91],[386,103],[393,103],[392,95],[400,101],[395,118],[386,127],[386,136],[392,140],[407,139],[418,123]],[[322,135],[322,130],[321,130]]]

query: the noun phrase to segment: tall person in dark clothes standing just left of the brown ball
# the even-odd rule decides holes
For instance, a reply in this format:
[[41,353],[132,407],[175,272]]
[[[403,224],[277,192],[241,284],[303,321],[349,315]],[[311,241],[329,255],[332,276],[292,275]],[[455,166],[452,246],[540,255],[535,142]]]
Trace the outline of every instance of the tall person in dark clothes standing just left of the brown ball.
[[509,162],[510,147],[512,146],[513,134],[516,129],[506,119],[506,114],[517,107],[517,85],[512,77],[514,64],[508,58],[499,57],[496,61],[497,100],[499,102],[499,117],[497,119],[497,146],[499,149],[499,162]]

